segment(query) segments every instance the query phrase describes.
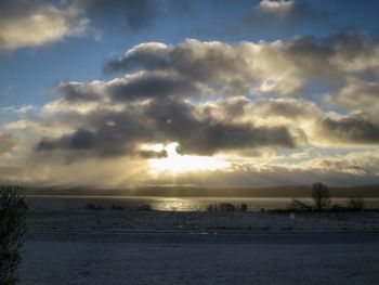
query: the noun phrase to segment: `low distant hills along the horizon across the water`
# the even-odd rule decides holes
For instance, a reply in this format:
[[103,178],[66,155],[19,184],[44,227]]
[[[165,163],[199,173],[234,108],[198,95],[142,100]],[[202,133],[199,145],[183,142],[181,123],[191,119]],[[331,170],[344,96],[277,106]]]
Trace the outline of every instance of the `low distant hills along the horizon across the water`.
[[[329,187],[332,197],[379,197],[379,185]],[[26,195],[166,197],[310,197],[311,185],[276,187],[141,186],[134,189],[25,187]]]

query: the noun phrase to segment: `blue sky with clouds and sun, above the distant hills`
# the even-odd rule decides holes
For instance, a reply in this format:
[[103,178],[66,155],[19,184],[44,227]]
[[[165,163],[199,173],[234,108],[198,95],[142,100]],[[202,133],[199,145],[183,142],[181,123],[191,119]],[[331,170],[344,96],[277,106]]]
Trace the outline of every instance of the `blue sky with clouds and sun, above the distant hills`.
[[0,183],[379,183],[375,0],[2,0]]

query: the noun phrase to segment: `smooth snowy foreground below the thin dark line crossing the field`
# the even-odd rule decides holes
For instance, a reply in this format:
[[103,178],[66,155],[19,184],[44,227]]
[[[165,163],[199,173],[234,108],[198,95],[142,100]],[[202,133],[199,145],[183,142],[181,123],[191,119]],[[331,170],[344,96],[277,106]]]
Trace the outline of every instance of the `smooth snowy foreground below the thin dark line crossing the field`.
[[378,284],[376,233],[34,232],[21,283]]

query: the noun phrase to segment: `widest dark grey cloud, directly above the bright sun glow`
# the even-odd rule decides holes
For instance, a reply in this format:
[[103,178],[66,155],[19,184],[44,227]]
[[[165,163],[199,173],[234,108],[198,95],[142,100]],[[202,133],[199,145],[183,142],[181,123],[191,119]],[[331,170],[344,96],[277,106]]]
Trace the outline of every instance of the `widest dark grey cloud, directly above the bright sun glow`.
[[134,155],[139,144],[178,142],[180,153],[212,155],[261,146],[296,146],[296,139],[285,127],[219,122],[212,117],[198,117],[196,108],[182,100],[167,98],[118,113],[90,113],[83,119],[91,131],[78,129],[58,139],[43,139],[37,150],[115,156]]

